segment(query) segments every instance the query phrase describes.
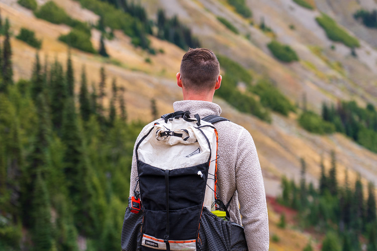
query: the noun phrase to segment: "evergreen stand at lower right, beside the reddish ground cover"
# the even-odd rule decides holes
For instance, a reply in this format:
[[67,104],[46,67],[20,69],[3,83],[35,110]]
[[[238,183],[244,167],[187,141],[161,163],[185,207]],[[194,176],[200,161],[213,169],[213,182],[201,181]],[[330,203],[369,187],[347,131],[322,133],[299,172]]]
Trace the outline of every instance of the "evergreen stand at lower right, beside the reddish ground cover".
[[[301,158],[301,179],[296,185],[294,180],[282,178],[282,195],[278,202],[297,210],[300,227],[314,228],[325,234],[322,251],[376,251],[377,216],[375,187],[368,184],[367,194],[357,177],[355,184],[349,184],[348,170],[345,183],[341,184],[337,176],[335,152],[331,152],[331,167],[326,172],[323,158],[320,163],[321,174],[319,188],[305,180],[306,163]],[[286,227],[282,214],[279,226]],[[312,250],[310,243],[309,249]]]

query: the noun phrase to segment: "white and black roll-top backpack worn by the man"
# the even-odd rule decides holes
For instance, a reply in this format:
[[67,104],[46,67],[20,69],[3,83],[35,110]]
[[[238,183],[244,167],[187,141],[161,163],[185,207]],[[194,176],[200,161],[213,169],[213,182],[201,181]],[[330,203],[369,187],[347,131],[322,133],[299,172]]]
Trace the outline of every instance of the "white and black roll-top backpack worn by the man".
[[[121,235],[123,251],[247,251],[242,226],[216,196],[218,133],[211,115],[177,111],[136,145],[138,180]],[[140,192],[136,191],[139,183]],[[211,211],[226,212],[226,219]]]

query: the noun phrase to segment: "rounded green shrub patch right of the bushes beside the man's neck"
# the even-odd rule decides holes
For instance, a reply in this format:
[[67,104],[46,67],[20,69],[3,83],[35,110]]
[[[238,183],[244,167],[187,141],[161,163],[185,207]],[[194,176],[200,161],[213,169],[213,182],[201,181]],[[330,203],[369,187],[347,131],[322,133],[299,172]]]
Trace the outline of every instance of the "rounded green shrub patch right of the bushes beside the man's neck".
[[251,91],[261,97],[263,106],[271,108],[273,111],[288,116],[290,111],[295,110],[287,97],[265,79],[262,79],[254,87],[251,87]]

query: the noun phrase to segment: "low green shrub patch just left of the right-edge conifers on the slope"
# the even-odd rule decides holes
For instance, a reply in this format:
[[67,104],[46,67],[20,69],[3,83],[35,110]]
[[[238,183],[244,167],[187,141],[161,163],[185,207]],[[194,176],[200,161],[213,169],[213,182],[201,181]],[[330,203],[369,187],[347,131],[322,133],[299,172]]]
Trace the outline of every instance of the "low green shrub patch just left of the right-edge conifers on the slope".
[[300,125],[309,132],[317,134],[330,134],[335,132],[333,123],[323,120],[312,111],[304,111],[299,117]]

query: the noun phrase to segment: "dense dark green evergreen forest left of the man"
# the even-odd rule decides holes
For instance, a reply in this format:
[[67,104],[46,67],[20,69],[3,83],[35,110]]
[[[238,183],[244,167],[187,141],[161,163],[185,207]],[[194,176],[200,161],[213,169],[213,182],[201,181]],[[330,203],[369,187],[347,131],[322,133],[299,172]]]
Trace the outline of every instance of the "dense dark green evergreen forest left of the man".
[[14,82],[9,37],[7,20],[0,57],[0,250],[119,250],[143,123],[128,122],[124,89],[106,78],[106,69],[95,85],[88,86],[85,65],[75,79],[69,52],[66,62],[43,65],[37,52],[31,79]]

